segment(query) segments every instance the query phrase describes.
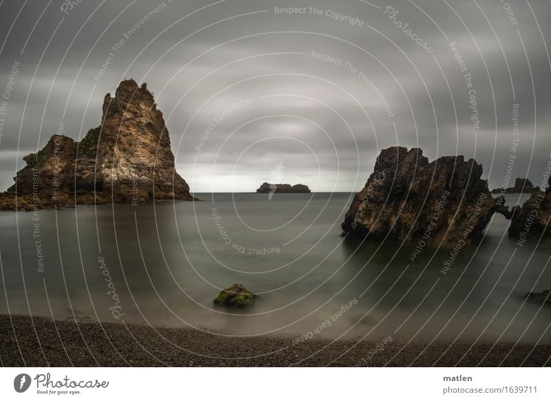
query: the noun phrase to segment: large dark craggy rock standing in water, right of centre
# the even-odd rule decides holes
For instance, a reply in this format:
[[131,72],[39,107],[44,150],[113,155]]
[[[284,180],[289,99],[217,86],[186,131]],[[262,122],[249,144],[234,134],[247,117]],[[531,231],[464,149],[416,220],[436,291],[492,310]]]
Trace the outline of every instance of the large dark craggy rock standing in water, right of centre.
[[464,246],[484,232],[497,202],[481,180],[482,166],[463,156],[432,163],[422,150],[390,147],[358,192],[342,223],[344,234]]

